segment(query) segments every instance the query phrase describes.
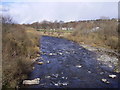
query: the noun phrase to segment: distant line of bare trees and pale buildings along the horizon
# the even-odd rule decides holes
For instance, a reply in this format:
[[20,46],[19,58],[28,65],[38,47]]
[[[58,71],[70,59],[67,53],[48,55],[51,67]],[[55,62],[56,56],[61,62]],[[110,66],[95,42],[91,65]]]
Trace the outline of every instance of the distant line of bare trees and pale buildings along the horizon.
[[34,22],[32,24],[23,24],[25,26],[30,26],[35,29],[43,29],[43,30],[72,30],[75,29],[78,25],[82,23],[89,23],[89,22],[104,22],[104,21],[116,21],[117,19],[96,19],[96,20],[83,20],[83,21],[70,21],[70,22],[64,22],[64,21],[57,21],[55,20],[54,22],[44,20],[42,22]]

